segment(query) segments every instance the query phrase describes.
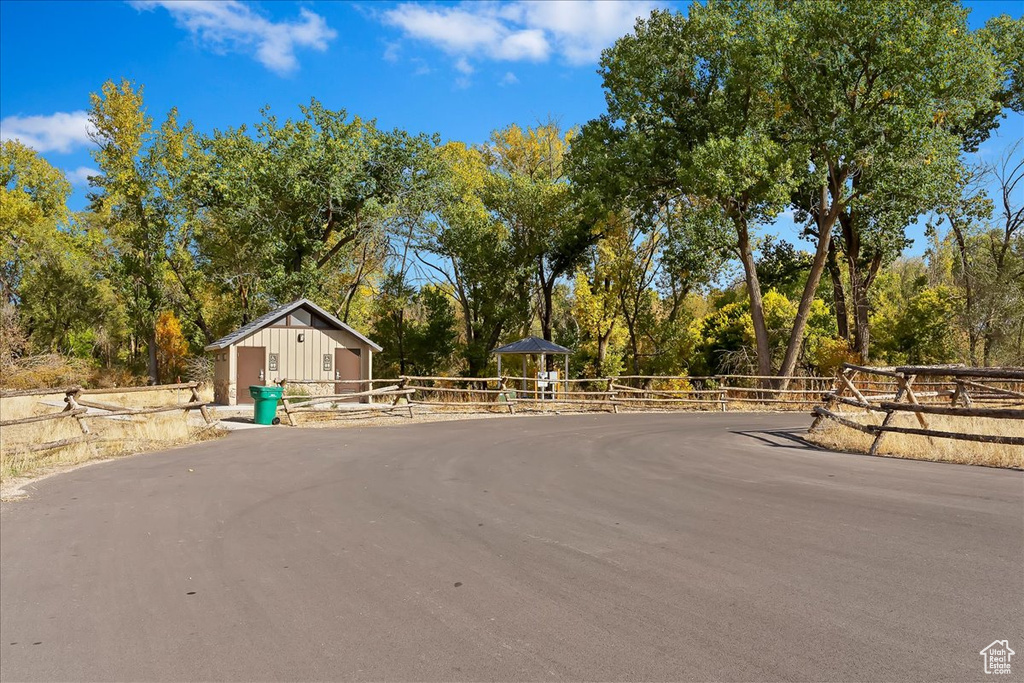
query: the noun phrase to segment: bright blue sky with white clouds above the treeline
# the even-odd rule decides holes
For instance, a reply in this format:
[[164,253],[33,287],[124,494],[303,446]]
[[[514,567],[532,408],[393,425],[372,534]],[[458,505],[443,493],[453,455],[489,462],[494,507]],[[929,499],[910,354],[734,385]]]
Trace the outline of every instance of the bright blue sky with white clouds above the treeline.
[[[973,1],[971,24],[1020,16],[1022,4]],[[151,116],[171,106],[201,131],[280,116],[316,97],[380,125],[445,139],[604,111],[601,48],[637,15],[682,3],[601,2],[0,2],[0,134],[34,144],[84,204],[84,112],[108,79],[145,86]],[[1004,122],[982,150],[1024,134]],[[783,218],[779,228],[787,232]],[[919,230],[911,230],[920,234]],[[920,253],[921,239],[911,250]]]

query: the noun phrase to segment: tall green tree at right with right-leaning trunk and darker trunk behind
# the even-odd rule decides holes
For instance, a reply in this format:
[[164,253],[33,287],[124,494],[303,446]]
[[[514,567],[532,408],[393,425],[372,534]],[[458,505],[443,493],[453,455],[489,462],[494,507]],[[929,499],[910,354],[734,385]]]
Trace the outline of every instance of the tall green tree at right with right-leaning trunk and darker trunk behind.
[[995,59],[954,3],[798,2],[774,20],[792,30],[777,52],[781,120],[821,183],[810,202],[815,258],[780,368],[788,375],[837,227],[854,346],[867,359],[874,274],[902,248],[906,226],[949,191],[955,131],[989,106],[998,80]]

